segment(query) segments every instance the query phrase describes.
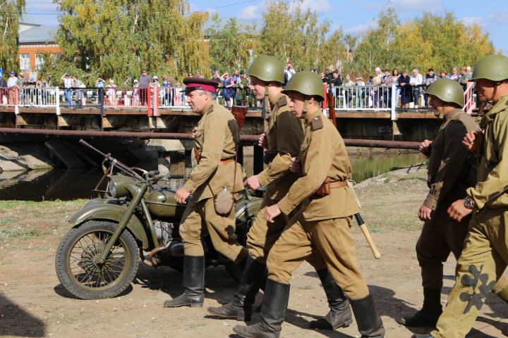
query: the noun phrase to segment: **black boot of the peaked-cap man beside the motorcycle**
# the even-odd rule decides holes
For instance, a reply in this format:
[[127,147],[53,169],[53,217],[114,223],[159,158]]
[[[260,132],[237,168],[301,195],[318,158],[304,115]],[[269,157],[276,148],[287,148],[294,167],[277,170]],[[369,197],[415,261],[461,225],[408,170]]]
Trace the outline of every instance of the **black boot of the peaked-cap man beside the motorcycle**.
[[164,308],[191,306],[202,308],[205,299],[205,257],[183,256],[183,287],[180,296],[164,301]]

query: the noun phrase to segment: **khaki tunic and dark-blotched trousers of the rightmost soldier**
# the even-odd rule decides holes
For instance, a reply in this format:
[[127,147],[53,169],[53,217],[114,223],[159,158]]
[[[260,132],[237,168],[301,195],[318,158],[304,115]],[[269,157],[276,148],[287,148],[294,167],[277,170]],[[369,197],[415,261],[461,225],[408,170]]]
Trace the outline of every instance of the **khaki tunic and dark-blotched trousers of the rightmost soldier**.
[[457,262],[455,286],[433,337],[465,337],[508,263],[508,194],[490,200],[508,185],[508,96],[482,118],[485,130],[477,168],[478,183],[467,190],[476,209]]

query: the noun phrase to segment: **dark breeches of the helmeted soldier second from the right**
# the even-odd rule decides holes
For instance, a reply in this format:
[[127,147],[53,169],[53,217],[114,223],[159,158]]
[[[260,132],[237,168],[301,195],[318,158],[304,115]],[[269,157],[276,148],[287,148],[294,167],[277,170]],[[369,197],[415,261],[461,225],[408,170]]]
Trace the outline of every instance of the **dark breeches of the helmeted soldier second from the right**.
[[441,289],[443,263],[450,252],[459,260],[470,221],[471,217],[464,218],[461,223],[433,218],[423,224],[416,243],[416,257],[421,266],[423,287]]

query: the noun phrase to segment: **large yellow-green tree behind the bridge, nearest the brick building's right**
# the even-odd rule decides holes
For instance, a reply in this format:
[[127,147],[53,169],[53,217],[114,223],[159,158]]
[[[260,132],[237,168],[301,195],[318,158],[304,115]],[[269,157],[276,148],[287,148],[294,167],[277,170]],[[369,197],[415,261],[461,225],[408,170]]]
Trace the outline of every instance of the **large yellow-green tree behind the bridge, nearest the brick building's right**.
[[202,25],[207,13],[188,14],[186,0],[57,0],[60,27],[56,42],[63,56],[43,75],[59,79],[56,70],[132,83],[147,68],[152,75],[182,77],[207,66]]

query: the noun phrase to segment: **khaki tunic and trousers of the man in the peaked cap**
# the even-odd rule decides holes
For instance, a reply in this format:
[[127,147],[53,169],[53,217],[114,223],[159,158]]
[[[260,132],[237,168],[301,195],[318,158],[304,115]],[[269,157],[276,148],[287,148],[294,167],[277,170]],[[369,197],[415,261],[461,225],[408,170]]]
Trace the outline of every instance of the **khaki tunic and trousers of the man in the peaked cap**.
[[227,216],[217,215],[212,198],[223,187],[230,192],[243,189],[241,165],[231,161],[236,156],[238,140],[238,125],[231,112],[214,100],[208,102],[195,132],[199,163],[195,163],[191,177],[183,184],[183,189],[192,194],[180,226],[186,256],[203,256],[201,237],[208,233],[214,248],[226,258],[236,262],[246,258],[246,249],[234,242],[234,208]]

